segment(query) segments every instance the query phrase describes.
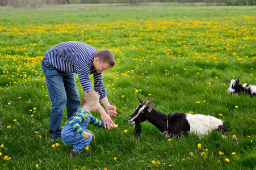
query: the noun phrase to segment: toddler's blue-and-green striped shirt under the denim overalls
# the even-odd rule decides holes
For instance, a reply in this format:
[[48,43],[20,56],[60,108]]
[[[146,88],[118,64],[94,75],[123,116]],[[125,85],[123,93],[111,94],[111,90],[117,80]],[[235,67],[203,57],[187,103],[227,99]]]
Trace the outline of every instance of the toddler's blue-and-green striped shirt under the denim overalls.
[[[89,116],[88,116],[89,115]],[[77,131],[77,133],[83,135],[86,133],[85,127],[80,126],[80,124],[87,120],[87,118],[90,118],[89,124],[93,124],[95,126],[98,126],[99,128],[104,128],[104,124],[102,121],[98,120],[98,118],[94,117],[93,114],[86,111],[86,109],[79,109],[75,115],[70,118],[68,121],[69,124],[71,124],[72,128]]]

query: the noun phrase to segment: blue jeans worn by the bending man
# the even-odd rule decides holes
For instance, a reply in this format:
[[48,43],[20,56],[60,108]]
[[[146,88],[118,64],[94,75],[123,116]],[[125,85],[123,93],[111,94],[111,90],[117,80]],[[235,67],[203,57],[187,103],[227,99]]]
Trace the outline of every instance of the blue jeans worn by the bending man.
[[49,134],[52,139],[61,137],[61,121],[64,108],[68,119],[81,107],[74,73],[66,73],[41,63],[52,102]]

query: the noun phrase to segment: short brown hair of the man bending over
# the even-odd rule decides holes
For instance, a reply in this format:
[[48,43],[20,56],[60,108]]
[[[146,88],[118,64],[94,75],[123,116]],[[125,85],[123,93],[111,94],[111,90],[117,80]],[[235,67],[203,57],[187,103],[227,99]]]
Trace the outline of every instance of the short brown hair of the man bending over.
[[99,50],[94,53],[94,58],[99,59],[99,63],[108,63],[111,67],[115,65],[115,56],[114,54],[107,49]]

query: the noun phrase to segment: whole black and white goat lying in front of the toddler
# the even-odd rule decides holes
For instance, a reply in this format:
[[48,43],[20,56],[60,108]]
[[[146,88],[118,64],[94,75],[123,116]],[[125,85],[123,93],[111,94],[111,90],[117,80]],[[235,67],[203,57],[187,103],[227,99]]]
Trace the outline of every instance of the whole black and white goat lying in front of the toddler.
[[[150,97],[150,96],[149,96]],[[198,135],[208,134],[211,130],[220,130],[226,133],[228,130],[223,124],[223,121],[213,116],[205,116],[203,114],[189,114],[189,113],[174,113],[164,114],[156,109],[153,109],[152,101],[148,103],[149,97],[143,102],[138,97],[140,105],[136,111],[129,117],[129,124],[135,124],[134,134],[139,137],[141,132],[141,122],[149,121],[156,126],[167,137],[174,135],[180,136],[187,133],[194,132]],[[152,103],[152,104],[150,104]]]

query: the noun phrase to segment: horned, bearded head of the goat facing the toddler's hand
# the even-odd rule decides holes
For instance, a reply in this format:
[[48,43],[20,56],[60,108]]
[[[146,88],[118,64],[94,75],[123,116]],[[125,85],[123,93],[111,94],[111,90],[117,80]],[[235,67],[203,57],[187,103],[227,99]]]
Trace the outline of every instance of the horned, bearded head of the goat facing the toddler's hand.
[[150,100],[148,103],[146,103],[149,97],[150,96],[148,96],[144,101],[142,101],[140,97],[138,97],[138,100],[140,101],[140,105],[136,108],[136,111],[132,113],[132,115],[129,117],[129,124],[135,124],[135,130],[133,131],[133,134],[135,134],[137,137],[139,137],[140,131],[141,131],[140,122],[144,122],[148,120],[148,114],[151,112],[154,105],[152,101],[156,100],[156,99],[153,99],[153,100]]

